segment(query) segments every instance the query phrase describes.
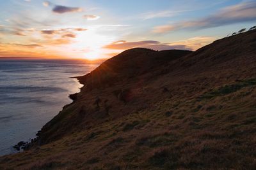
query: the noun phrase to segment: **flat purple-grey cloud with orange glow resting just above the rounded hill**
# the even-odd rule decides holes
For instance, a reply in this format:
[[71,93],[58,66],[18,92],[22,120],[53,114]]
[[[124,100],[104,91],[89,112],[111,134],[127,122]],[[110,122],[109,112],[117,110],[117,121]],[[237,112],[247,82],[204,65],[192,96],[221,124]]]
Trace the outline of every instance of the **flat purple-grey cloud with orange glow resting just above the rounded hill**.
[[191,50],[185,45],[171,45],[168,43],[160,43],[159,41],[116,41],[110,45],[104,46],[111,50],[127,50],[129,48],[150,48],[153,50],[171,50],[171,49],[182,49],[182,50]]

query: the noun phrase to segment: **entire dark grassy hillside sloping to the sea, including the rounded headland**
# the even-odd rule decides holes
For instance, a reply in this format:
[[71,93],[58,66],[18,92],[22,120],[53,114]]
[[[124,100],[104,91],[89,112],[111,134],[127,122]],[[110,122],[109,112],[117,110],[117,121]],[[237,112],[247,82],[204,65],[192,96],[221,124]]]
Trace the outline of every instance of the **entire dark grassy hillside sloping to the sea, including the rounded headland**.
[[256,31],[196,52],[127,50],[0,169],[253,169]]

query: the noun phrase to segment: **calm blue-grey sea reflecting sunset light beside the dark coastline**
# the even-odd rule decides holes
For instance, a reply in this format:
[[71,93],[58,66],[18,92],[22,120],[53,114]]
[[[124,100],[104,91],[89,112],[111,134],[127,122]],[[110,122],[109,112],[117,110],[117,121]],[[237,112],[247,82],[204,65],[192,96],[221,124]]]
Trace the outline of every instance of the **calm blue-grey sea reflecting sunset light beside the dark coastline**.
[[68,94],[82,87],[72,76],[89,73],[98,64],[81,60],[0,59],[0,155],[13,145],[35,138],[37,131],[72,101]]

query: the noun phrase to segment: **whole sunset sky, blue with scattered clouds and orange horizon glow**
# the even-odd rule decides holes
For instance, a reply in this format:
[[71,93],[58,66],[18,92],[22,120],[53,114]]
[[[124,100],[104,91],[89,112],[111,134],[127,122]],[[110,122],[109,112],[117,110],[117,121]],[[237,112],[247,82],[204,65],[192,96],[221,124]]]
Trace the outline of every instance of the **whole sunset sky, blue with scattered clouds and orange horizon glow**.
[[197,50],[256,25],[256,0],[0,0],[0,57]]

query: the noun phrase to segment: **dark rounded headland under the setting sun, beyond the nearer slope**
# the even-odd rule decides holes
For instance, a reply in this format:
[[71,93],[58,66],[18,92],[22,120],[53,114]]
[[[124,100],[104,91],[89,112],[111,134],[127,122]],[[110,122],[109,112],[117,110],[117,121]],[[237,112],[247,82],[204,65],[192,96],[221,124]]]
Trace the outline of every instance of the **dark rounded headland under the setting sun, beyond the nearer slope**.
[[87,87],[112,83],[138,76],[190,53],[192,52],[186,50],[155,51],[147,48],[132,48],[106,60],[92,73],[78,77],[78,80]]

